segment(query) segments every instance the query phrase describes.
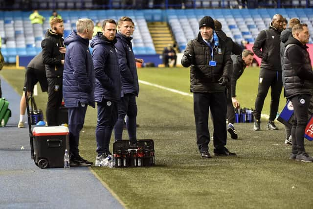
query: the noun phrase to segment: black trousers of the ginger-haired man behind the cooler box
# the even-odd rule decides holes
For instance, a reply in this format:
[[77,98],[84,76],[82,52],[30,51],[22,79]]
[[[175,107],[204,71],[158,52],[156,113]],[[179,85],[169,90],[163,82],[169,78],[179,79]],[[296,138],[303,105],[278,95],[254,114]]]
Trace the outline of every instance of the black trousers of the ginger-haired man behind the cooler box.
[[62,77],[47,78],[48,80],[48,101],[45,117],[48,126],[58,126],[59,109],[62,103]]

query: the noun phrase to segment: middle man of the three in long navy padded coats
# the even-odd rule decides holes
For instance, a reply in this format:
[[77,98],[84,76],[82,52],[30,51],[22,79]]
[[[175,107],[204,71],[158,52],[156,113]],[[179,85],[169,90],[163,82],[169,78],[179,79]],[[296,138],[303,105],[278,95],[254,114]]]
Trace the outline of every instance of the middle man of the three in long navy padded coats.
[[[97,157],[95,166],[105,164],[110,155],[109,144],[113,127],[117,121],[118,103],[121,100],[121,74],[118,66],[116,43],[116,23],[105,20],[102,32],[98,32],[91,40],[93,48],[92,60],[95,70],[96,84],[94,98],[97,102]],[[112,156],[111,156],[112,157]]]

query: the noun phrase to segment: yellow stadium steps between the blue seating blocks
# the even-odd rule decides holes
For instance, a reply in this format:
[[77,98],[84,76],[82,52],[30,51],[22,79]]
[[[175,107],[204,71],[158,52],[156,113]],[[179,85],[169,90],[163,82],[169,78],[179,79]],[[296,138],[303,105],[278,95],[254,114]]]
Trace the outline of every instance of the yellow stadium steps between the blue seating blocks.
[[168,44],[175,42],[174,36],[166,22],[150,22],[148,23],[148,29],[157,54],[162,54],[163,49]]

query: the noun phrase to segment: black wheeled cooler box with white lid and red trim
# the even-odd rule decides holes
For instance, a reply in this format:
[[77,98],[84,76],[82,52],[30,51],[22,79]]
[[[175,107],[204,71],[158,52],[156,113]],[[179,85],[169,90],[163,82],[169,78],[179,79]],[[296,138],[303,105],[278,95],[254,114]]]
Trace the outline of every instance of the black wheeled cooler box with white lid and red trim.
[[40,168],[64,167],[64,153],[69,150],[69,132],[65,126],[33,129],[34,161]]

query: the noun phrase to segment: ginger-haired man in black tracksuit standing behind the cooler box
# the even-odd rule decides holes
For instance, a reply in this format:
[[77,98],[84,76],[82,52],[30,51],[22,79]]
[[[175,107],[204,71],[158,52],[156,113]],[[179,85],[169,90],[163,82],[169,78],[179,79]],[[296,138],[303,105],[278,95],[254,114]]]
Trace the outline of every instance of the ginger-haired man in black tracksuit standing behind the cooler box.
[[66,48],[64,46],[63,20],[53,18],[51,28],[41,43],[45,74],[48,80],[48,101],[45,116],[48,126],[58,126],[58,113],[62,102],[62,76]]

